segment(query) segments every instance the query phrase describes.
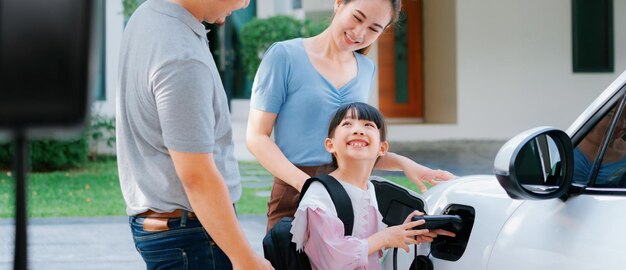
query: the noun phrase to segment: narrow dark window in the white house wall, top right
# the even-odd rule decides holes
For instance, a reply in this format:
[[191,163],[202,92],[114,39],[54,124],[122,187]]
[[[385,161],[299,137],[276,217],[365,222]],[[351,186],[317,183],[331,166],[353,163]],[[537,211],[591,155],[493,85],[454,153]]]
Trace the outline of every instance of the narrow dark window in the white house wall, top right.
[[613,72],[613,0],[572,0],[574,72]]

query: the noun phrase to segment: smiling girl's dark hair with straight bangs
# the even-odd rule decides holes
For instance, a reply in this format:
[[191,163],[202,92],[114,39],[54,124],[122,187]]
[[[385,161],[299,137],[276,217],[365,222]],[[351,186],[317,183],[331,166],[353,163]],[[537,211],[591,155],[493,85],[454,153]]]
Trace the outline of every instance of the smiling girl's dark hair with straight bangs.
[[[387,124],[385,123],[385,118],[376,108],[363,102],[345,104],[337,109],[337,112],[335,112],[335,115],[331,118],[330,125],[328,126],[328,138],[332,138],[335,135],[335,130],[349,113],[352,119],[374,122],[378,127],[378,132],[380,132],[380,141],[387,141]],[[333,157],[333,163],[330,169],[336,169],[337,159],[334,155],[331,156]]]

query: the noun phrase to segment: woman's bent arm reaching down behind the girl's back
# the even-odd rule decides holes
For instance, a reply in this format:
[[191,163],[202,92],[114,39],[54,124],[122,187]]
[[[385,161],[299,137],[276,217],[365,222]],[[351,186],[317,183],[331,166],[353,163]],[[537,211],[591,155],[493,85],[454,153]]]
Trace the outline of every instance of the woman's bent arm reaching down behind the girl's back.
[[277,114],[250,109],[246,143],[248,149],[272,175],[285,181],[298,191],[309,175],[293,165],[278,145],[270,138]]

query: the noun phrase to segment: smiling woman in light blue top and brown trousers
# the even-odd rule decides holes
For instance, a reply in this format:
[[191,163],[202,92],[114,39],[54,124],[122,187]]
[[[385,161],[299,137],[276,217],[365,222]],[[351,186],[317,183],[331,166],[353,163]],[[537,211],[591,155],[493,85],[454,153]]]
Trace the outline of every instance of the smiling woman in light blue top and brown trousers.
[[[331,162],[324,139],[335,111],[343,104],[369,100],[376,68],[364,53],[397,20],[400,2],[335,0],[335,15],[326,30],[275,43],[264,55],[252,87],[246,140],[275,177],[268,229],[282,217],[293,216],[304,181]],[[454,177],[393,153],[383,156],[376,169],[402,170],[422,190],[422,181],[435,184],[435,179]]]

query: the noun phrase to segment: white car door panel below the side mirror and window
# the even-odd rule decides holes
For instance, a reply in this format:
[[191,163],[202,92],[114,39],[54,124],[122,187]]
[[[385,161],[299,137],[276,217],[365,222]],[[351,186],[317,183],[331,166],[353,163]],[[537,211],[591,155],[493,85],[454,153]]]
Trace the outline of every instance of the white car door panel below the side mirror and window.
[[624,269],[624,209],[626,198],[617,196],[524,201],[500,231],[488,267],[472,269]]

